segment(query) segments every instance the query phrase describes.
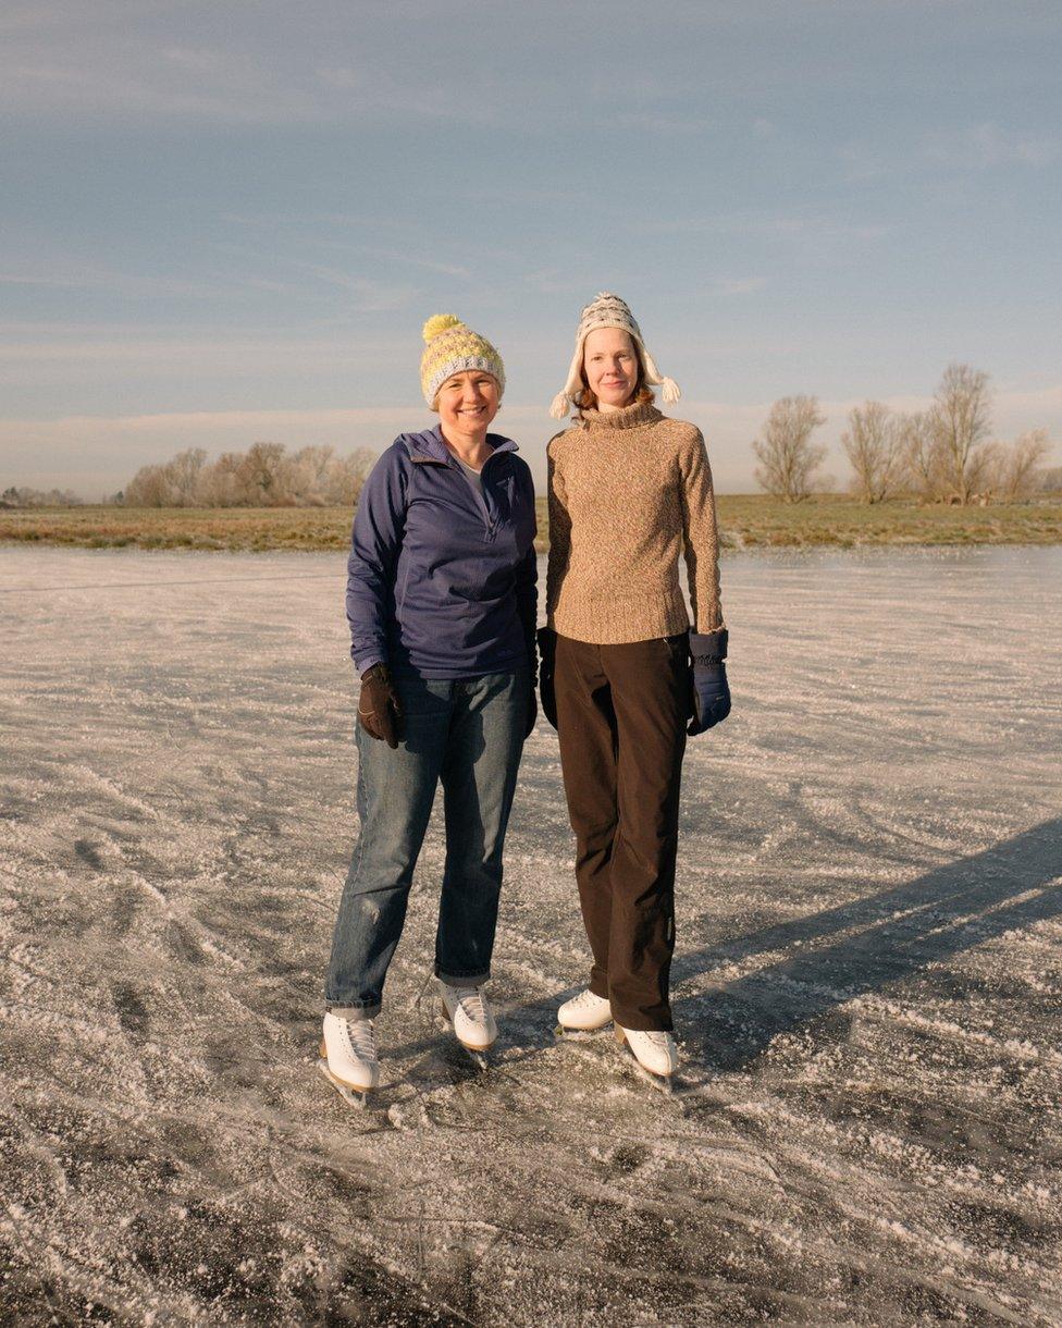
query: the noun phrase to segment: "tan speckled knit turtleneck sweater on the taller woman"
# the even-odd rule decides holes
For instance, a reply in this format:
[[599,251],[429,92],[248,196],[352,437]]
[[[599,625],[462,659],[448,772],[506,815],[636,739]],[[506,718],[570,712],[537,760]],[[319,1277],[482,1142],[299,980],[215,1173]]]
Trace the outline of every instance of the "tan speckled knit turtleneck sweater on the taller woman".
[[716,497],[701,430],[652,404],[601,413],[550,440],[546,612],[596,645],[722,627]]

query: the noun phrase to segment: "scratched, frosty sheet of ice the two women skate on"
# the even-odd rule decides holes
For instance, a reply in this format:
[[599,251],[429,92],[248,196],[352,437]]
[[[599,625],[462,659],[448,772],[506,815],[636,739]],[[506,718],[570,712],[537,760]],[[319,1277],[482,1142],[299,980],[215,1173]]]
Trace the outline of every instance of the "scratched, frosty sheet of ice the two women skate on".
[[735,554],[685,768],[665,1098],[522,768],[479,1072],[433,827],[352,1112],[336,554],[0,550],[0,1321],[1062,1323],[1062,548]]

